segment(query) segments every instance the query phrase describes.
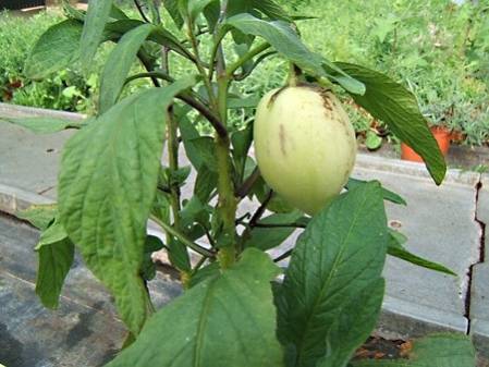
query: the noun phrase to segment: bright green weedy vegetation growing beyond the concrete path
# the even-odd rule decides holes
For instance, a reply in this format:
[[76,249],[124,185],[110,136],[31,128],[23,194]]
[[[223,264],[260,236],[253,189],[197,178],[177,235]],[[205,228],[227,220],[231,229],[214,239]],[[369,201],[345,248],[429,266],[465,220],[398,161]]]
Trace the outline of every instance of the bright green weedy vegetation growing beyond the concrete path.
[[[387,73],[415,94],[431,124],[462,132],[466,144],[489,143],[489,0],[462,7],[448,0],[282,0],[282,3],[301,15],[317,17],[298,23],[302,36],[313,49],[333,60],[356,62]],[[28,19],[0,14],[0,100],[87,113],[96,110],[96,73],[103,64],[105,50],[94,61],[94,74],[88,79],[82,77],[76,65],[41,82],[23,76],[29,48],[59,19],[56,13]],[[168,24],[178,33],[170,21]],[[201,39],[206,42],[205,36]],[[180,60],[172,62],[173,70],[187,73],[192,66]],[[234,91],[241,98],[253,99],[282,85],[285,73],[284,62],[272,57]],[[129,91],[146,84],[132,84]],[[347,108],[360,136],[390,138],[383,124],[353,105]],[[240,126],[250,118],[249,112],[237,109],[233,123]]]

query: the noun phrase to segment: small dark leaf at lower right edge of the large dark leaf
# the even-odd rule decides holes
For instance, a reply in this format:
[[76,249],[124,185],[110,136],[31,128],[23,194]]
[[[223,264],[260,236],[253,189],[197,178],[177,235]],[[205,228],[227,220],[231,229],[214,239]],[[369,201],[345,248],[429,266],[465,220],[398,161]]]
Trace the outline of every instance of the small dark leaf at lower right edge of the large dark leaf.
[[[378,278],[350,297],[349,304],[329,330],[326,342],[327,356],[317,364],[317,367],[347,365],[355,351],[367,340],[377,325],[384,288],[384,280]],[[358,301],[362,302],[362,307],[358,306]]]

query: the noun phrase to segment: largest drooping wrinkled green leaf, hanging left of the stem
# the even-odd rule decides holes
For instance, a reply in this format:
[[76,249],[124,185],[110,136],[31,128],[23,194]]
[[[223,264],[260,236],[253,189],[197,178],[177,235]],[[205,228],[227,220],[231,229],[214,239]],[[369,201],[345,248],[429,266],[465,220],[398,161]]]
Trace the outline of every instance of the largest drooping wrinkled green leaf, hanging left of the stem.
[[139,272],[160,170],[162,111],[194,83],[188,77],[122,100],[64,148],[59,181],[61,221],[87,266],[113,293],[134,334],[147,316]]

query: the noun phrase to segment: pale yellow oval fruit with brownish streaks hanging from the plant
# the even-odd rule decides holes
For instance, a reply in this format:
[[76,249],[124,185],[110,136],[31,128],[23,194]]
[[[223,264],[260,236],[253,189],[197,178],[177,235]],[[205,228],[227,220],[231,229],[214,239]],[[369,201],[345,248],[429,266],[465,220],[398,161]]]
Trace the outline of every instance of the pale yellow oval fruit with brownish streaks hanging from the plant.
[[311,86],[268,93],[257,108],[254,139],[265,181],[309,215],[341,192],[355,164],[346,112],[331,91]]

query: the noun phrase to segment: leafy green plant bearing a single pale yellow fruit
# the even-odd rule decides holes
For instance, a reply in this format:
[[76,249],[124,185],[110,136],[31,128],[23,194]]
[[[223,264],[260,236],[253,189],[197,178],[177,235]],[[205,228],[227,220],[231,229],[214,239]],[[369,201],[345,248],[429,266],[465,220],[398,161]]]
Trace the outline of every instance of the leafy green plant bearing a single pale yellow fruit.
[[[349,180],[354,133],[332,87],[415,147],[440,184],[445,163],[416,100],[381,73],[309,50],[294,17],[272,0],[163,1],[183,40],[162,22],[159,1],[146,4],[147,11],[135,1],[140,19],[130,20],[110,0],[90,1],[86,13],[66,3],[69,19],[45,33],[27,60],[35,78],[77,61],[88,72],[100,44],[115,42],[96,117],[80,124],[12,120],[44,132],[80,130],[64,147],[58,205],[20,213],[42,230],[41,302],[58,306],[77,250],[127,327],[108,367],[371,366],[351,358],[380,313],[388,252],[451,271],[416,260],[389,229],[384,200],[403,204],[399,195],[379,182]],[[289,81],[261,98],[254,123],[233,129],[230,87],[276,54],[289,61]],[[145,71],[129,75],[136,61]],[[172,65],[182,61],[195,75],[175,75]],[[121,99],[137,78],[154,87]],[[196,129],[201,118],[212,135]],[[180,149],[192,168],[180,166]],[[191,169],[194,196],[183,201]],[[343,185],[347,192],[340,194]],[[246,197],[259,205],[236,216]],[[147,234],[148,220],[164,231],[164,242]],[[297,228],[305,230],[295,249],[270,258],[266,250]],[[184,289],[161,309],[146,286],[158,248],[168,252]],[[276,262],[288,257],[281,281]],[[452,351],[454,364],[474,366],[470,341],[450,334],[420,341],[412,362],[437,364]]]

